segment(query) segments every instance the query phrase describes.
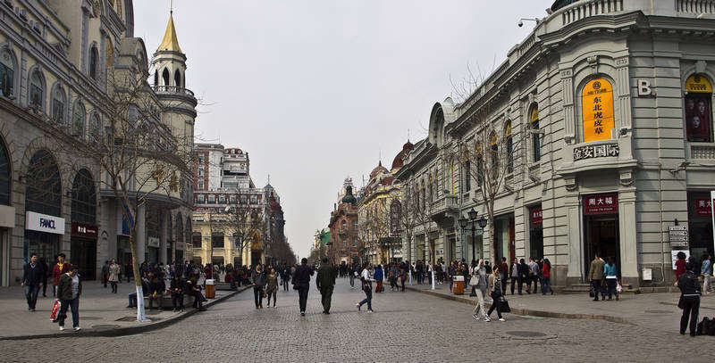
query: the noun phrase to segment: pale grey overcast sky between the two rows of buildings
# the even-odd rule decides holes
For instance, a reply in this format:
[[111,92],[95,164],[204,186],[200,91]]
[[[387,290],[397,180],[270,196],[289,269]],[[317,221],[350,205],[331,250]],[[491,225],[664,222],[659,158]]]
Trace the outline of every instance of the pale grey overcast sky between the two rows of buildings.
[[[408,139],[426,136],[435,102],[472,70],[488,75],[545,16],[551,0],[175,0],[188,57],[186,85],[202,99],[201,142],[249,153],[282,198],[286,235],[306,257],[346,176],[356,186],[382,153],[389,169]],[[135,35],[151,53],[169,0],[134,2]],[[495,62],[496,60],[496,62]]]

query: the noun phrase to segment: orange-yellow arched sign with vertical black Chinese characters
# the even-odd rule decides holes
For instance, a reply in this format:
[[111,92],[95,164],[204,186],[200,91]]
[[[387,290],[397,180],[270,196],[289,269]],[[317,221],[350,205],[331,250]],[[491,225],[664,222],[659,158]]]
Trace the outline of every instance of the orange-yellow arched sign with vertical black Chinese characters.
[[593,79],[581,95],[584,142],[608,140],[613,129],[613,87],[603,78]]

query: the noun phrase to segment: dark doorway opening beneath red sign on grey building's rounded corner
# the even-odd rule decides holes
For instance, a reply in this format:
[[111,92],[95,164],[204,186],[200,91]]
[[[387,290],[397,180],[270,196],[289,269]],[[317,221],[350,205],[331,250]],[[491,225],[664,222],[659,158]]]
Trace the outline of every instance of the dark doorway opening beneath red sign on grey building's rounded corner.
[[[618,268],[618,278],[620,278],[620,239],[618,235],[618,215],[608,217],[586,217],[585,228],[585,275],[588,275],[588,268],[596,252],[600,253],[601,259],[608,262],[613,259]],[[587,277],[587,276],[585,276]]]

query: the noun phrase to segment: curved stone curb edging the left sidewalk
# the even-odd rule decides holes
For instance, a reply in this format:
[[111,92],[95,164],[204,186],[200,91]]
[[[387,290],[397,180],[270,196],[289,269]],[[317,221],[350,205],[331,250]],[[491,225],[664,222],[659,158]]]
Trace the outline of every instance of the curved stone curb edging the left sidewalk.
[[[248,288],[250,288],[252,285],[244,286],[240,288],[237,291],[228,293],[220,298],[214,299],[213,301],[208,301],[204,305],[205,308],[210,308],[214,306],[215,304],[231,299],[233,296],[238,295],[239,293],[242,293]],[[132,310],[134,311],[134,310]],[[46,338],[67,338],[67,337],[89,337],[89,336],[119,336],[119,335],[130,335],[130,334],[139,334],[139,333],[146,333],[146,332],[151,332],[156,329],[161,329],[166,326],[171,326],[172,324],[178,323],[181,320],[185,318],[189,318],[190,316],[198,313],[198,309],[188,309],[186,312],[183,314],[177,315],[173,318],[167,318],[161,321],[158,321],[156,323],[149,323],[145,325],[140,325],[140,326],[122,326],[116,329],[109,329],[109,330],[84,330],[80,331],[79,333],[54,333],[54,334],[38,334],[38,335],[21,335],[21,336],[4,336],[0,337],[0,341],[21,341],[21,340],[32,340],[32,339],[46,339]],[[81,312],[81,310],[80,310]],[[82,319],[80,315],[80,320]],[[54,323],[53,323],[54,324]]]

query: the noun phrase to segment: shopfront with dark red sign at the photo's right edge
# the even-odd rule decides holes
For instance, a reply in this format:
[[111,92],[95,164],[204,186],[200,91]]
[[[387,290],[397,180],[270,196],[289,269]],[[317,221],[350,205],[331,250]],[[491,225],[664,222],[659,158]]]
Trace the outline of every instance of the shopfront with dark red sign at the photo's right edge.
[[712,252],[712,200],[710,192],[687,193],[687,227],[690,255],[696,260]]

